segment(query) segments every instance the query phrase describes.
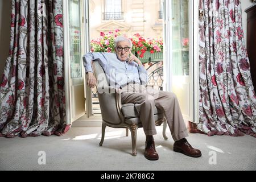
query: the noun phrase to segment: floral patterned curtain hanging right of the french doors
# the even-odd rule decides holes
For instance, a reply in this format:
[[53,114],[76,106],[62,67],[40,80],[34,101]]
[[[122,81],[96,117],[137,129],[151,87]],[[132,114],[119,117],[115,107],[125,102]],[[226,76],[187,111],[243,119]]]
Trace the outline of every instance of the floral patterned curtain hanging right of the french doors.
[[208,135],[256,137],[256,96],[239,0],[200,0],[200,123]]

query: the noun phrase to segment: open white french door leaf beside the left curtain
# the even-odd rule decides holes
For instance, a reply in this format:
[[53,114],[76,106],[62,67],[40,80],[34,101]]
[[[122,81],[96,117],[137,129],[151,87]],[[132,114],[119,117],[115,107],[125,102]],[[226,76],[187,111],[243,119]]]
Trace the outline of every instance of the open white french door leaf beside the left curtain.
[[72,123],[85,114],[83,22],[84,1],[63,0],[65,89],[67,121]]

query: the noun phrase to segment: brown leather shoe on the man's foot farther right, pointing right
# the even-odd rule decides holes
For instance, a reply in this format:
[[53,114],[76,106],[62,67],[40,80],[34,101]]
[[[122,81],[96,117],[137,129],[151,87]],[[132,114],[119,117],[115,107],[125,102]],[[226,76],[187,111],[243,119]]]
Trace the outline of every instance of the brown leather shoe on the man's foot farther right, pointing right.
[[188,143],[187,139],[183,138],[176,142],[174,142],[174,151],[180,152],[182,154],[185,154],[187,156],[191,156],[193,158],[199,158],[202,154],[201,151],[198,149],[195,149],[191,146],[191,144]]

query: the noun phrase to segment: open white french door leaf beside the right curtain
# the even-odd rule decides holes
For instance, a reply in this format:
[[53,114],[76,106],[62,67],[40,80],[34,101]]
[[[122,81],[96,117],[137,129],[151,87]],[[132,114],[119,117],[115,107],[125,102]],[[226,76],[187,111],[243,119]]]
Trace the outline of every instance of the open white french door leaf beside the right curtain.
[[[174,92],[187,121],[197,120],[197,61],[195,45],[198,1],[164,0],[164,90]],[[194,22],[194,23],[193,23]],[[198,44],[197,44],[198,45]]]

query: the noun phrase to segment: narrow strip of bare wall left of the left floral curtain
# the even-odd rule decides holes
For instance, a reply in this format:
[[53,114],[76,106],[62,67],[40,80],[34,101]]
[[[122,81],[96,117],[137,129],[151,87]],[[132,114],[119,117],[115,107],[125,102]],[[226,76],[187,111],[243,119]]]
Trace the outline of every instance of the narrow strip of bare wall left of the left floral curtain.
[[11,25],[11,1],[0,0],[0,81],[9,55]]

